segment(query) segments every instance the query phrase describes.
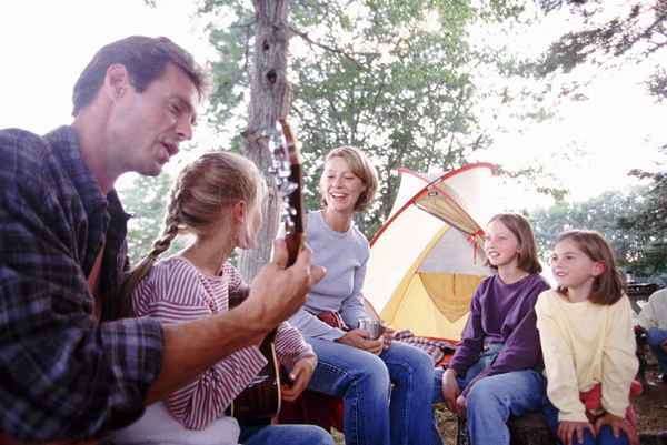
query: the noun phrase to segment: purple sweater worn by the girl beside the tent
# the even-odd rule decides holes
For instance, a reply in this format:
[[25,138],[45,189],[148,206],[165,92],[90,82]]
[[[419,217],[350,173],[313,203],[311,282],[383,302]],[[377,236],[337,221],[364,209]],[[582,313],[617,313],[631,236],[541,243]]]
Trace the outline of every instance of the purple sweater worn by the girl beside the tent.
[[549,284],[538,274],[528,275],[512,284],[500,276],[485,279],[472,295],[470,316],[449,366],[457,375],[466,372],[479,360],[484,345],[505,343],[505,346],[486,370],[470,382],[464,395],[479,378],[511,371],[544,366],[536,327],[535,303]]

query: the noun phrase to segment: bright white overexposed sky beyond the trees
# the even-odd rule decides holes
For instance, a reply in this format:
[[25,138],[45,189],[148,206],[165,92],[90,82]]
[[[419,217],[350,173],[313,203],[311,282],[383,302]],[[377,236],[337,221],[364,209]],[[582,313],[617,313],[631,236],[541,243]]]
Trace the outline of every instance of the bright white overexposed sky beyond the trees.
[[[167,36],[199,62],[213,58],[201,23],[193,22],[192,3],[158,0],[153,9],[143,0],[0,2],[0,128],[44,133],[70,123],[71,90],[83,67],[103,44],[130,34]],[[545,23],[541,38],[560,32],[559,26]],[[528,48],[541,47],[531,41]],[[587,101],[554,103],[556,119],[492,134],[491,150],[477,160],[508,169],[541,162],[557,172],[575,201],[627,189],[636,183],[627,171],[656,170],[656,162],[664,160],[656,146],[667,142],[667,107],[644,92],[646,69],[637,64],[614,75],[596,73]],[[212,130],[200,122],[195,143],[210,146]],[[505,193],[506,206],[517,201],[518,193],[525,191]],[[539,196],[521,201],[546,202]]]

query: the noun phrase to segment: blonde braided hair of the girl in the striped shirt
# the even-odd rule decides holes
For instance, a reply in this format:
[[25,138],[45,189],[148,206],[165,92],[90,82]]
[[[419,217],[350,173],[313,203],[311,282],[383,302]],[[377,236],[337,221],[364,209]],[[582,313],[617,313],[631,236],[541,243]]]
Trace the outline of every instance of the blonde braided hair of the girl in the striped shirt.
[[220,222],[222,210],[239,201],[247,202],[249,208],[260,205],[263,189],[266,183],[257,166],[231,152],[205,153],[186,165],[171,188],[162,234],[126,279],[121,295],[131,295],[178,234],[208,233]]

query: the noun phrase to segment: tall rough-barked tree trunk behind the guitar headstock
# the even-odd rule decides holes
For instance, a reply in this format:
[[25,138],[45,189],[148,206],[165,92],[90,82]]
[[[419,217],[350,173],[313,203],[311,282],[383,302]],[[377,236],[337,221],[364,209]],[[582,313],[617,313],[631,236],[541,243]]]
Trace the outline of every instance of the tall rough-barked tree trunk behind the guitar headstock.
[[287,81],[287,50],[290,31],[287,16],[290,0],[253,0],[255,51],[250,80],[250,107],[248,128],[243,132],[246,154],[263,173],[269,186],[262,213],[265,222],[258,235],[258,247],[242,251],[239,271],[250,282],[266,264],[280,219],[282,200],[278,195],[273,178],[268,173],[271,153],[262,134],[275,125],[278,118],[286,118],[290,107],[290,87]]

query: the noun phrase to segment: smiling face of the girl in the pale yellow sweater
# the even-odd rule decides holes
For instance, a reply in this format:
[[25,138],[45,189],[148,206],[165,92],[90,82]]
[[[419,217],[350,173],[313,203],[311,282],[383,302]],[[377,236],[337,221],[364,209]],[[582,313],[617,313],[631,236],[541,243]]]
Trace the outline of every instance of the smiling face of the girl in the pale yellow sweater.
[[597,276],[605,271],[599,261],[593,261],[570,239],[561,240],[551,254],[551,273],[559,287],[590,290]]

